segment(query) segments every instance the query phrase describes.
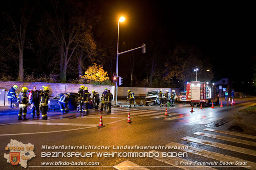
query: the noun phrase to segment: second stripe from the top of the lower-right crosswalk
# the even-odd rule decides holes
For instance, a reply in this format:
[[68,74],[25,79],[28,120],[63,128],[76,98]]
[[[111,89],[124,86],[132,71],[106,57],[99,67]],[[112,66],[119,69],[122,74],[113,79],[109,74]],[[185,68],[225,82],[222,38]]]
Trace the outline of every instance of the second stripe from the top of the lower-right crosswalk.
[[220,136],[220,135],[213,135],[211,133],[202,133],[202,132],[196,132],[194,133],[195,135],[201,135],[201,136],[206,136],[206,137],[211,137],[215,139],[220,139],[220,140],[226,140],[226,141],[231,141],[231,142],[237,142],[237,143],[242,143],[242,144],[248,144],[251,146],[256,147],[256,142],[252,141],[247,141],[247,140],[242,140],[242,139],[236,139],[233,137],[226,137],[226,136]]

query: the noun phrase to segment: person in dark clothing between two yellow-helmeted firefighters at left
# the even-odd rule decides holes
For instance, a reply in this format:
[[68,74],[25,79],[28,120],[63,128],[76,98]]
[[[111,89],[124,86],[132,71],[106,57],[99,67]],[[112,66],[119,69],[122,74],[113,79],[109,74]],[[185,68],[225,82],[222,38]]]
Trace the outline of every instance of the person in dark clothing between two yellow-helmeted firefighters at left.
[[38,91],[36,90],[36,86],[33,87],[33,91],[31,91],[31,98],[30,98],[30,103],[33,105],[32,107],[32,118],[35,117],[35,109],[36,109],[36,116],[40,116],[39,112],[39,103],[40,103],[40,95]]

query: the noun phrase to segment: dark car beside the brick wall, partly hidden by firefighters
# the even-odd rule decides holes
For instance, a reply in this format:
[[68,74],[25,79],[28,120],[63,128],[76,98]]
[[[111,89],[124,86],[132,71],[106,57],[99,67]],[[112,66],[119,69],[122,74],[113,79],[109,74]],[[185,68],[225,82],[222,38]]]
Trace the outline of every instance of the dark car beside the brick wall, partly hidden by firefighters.
[[[54,109],[54,110],[60,109],[58,100],[59,100],[61,94],[63,94],[63,93],[60,93],[58,95],[55,95],[54,97],[49,98],[48,109]],[[94,101],[92,100],[92,98],[90,98],[89,109],[94,108],[94,106],[95,106]],[[68,108],[69,108],[69,110],[76,110],[77,112],[79,112],[79,103],[78,103],[78,99],[77,99],[77,93],[70,93]]]

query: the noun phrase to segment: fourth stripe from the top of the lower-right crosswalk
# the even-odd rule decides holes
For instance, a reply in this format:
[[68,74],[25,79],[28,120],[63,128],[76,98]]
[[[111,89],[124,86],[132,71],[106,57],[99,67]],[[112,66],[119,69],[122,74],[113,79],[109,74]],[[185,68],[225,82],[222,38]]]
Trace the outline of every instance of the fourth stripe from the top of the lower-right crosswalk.
[[[233,162],[235,164],[236,161],[239,162],[245,162],[246,160],[240,159],[240,158],[235,158],[232,156],[228,156],[228,155],[223,155],[223,154],[219,154],[216,152],[211,152],[211,151],[206,151],[204,149],[199,149],[199,148],[195,148],[195,147],[190,147],[184,144],[179,144],[179,143],[169,143],[166,146],[173,146],[173,147],[188,147],[188,149],[183,149],[183,148],[178,148],[178,150],[180,151],[185,151],[188,152],[190,154],[195,154],[198,156],[203,156],[205,158],[211,158],[211,159],[215,159],[217,161],[223,161],[223,162]],[[250,169],[250,170],[255,170],[256,169],[256,163],[251,162],[251,161],[246,161],[247,165],[246,166],[242,166],[244,168]]]

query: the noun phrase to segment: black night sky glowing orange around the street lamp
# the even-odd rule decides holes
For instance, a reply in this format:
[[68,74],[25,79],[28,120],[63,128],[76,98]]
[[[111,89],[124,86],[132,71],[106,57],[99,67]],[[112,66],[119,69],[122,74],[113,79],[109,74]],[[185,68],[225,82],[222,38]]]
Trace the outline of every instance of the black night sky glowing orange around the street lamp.
[[[9,5],[11,8],[14,2],[6,2],[5,7]],[[209,56],[209,63],[213,65],[213,81],[229,77],[251,82],[252,68],[256,63],[256,15],[253,4],[156,0],[92,2],[96,7],[95,14],[101,17],[100,28],[97,29],[109,31],[109,35],[116,39],[118,19],[126,17],[126,21],[120,23],[119,52],[128,50],[130,42],[134,48],[142,43],[147,45],[150,37],[161,33],[161,39],[166,43],[166,54],[177,44],[187,43],[196,45],[204,56]],[[43,12],[43,8],[47,8],[45,4],[38,5],[42,7],[38,11]],[[116,47],[116,43],[113,46]]]

